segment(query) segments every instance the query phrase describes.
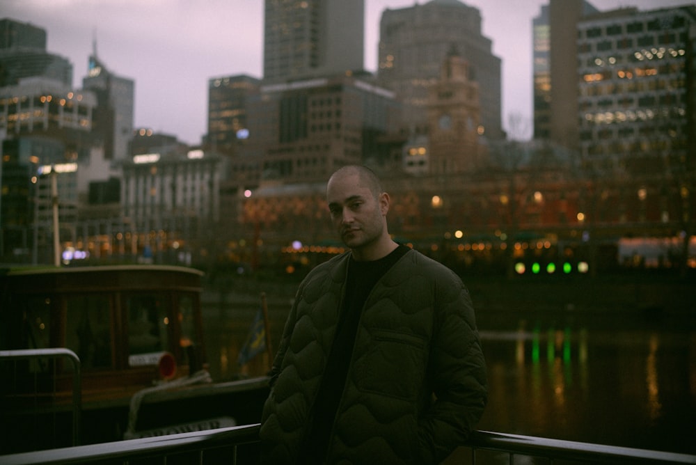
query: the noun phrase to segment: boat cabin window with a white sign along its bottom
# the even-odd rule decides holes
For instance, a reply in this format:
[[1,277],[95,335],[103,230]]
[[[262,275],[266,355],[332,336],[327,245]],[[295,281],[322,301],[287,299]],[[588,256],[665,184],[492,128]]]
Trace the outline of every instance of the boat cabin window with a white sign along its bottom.
[[166,297],[157,292],[126,297],[129,365],[157,365],[159,355],[169,349]]

